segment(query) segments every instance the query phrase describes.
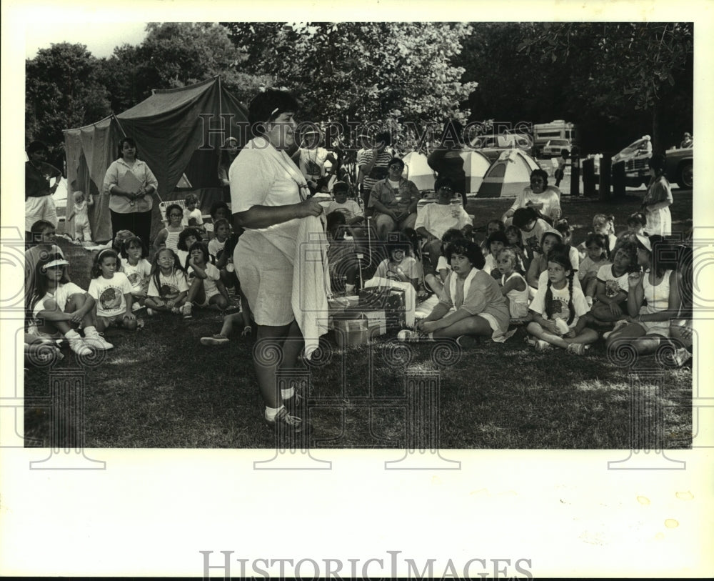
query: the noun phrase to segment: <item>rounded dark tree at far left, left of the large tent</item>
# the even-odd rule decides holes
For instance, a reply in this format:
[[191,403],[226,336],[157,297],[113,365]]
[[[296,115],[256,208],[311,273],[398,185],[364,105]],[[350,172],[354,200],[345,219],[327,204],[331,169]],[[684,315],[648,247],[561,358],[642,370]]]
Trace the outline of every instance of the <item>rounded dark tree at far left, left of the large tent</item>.
[[62,129],[79,127],[109,114],[99,62],[84,44],[62,42],[41,49],[25,62],[26,139],[44,141],[53,154],[64,152]]

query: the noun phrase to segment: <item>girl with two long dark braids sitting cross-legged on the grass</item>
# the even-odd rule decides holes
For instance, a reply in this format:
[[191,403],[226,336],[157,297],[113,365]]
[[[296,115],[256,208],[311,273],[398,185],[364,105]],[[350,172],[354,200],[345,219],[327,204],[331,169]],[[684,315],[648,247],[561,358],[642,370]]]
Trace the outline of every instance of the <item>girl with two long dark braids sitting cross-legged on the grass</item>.
[[531,302],[533,321],[526,327],[535,337],[528,342],[536,351],[555,346],[582,355],[598,340],[598,333],[585,327],[585,319],[580,320],[590,307],[583,290],[573,284],[574,274],[568,254],[548,254],[548,284],[538,287]]

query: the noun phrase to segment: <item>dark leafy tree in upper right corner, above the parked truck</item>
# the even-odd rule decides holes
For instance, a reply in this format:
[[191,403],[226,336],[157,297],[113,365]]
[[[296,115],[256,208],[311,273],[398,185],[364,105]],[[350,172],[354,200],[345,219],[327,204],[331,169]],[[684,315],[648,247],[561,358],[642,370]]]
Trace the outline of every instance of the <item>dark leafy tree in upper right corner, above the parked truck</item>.
[[684,106],[670,110],[669,121],[689,119],[691,127],[693,46],[692,23],[605,22],[533,25],[518,50],[537,55],[541,66],[566,68],[580,102],[648,114],[656,151],[671,140],[670,124],[661,122],[665,105]]

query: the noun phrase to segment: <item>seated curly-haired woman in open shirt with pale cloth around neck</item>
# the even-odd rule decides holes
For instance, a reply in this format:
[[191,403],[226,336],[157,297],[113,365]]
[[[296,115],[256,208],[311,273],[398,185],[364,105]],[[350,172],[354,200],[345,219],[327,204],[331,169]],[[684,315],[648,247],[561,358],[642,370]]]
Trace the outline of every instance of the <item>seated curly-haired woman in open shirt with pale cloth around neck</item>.
[[436,307],[416,324],[416,331],[402,329],[400,341],[433,341],[456,338],[461,347],[475,337],[504,342],[508,336],[508,306],[491,274],[483,271],[483,252],[468,240],[457,239],[446,248],[451,257],[451,274]]

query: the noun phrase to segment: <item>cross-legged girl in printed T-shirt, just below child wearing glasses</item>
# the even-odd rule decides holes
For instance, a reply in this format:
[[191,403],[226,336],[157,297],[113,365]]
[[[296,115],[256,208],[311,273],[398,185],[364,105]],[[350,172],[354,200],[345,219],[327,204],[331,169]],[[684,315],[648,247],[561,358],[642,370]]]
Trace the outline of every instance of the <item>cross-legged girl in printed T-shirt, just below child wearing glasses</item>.
[[170,312],[181,314],[186,302],[188,282],[186,271],[178,264],[178,257],[168,248],[162,248],[154,256],[151,279],[146,297],[146,313]]

